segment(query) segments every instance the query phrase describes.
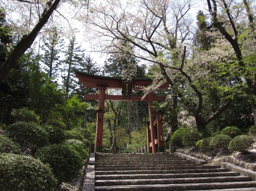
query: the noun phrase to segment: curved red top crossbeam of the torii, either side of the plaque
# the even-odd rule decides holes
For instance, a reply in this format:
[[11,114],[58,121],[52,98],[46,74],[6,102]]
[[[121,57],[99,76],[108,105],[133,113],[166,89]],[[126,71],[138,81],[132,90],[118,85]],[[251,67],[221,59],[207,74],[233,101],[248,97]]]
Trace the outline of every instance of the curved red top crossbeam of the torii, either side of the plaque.
[[[85,87],[98,88],[99,86],[105,86],[106,89],[121,89],[121,78],[114,78],[109,76],[98,76],[91,75],[85,72],[76,71],[76,76],[79,81],[83,83]],[[134,78],[133,81],[133,90],[141,90],[142,87],[152,84],[153,80],[149,78]],[[169,86],[168,83],[165,83],[158,87],[158,89],[166,89]]]

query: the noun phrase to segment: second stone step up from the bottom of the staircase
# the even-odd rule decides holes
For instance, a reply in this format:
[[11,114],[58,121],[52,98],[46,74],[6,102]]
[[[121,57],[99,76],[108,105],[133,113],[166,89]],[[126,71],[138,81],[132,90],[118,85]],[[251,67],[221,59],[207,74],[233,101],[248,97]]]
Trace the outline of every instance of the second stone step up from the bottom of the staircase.
[[197,177],[197,178],[163,178],[163,179],[128,179],[128,180],[95,180],[95,186],[129,186],[147,184],[199,184],[219,182],[251,181],[248,176]]

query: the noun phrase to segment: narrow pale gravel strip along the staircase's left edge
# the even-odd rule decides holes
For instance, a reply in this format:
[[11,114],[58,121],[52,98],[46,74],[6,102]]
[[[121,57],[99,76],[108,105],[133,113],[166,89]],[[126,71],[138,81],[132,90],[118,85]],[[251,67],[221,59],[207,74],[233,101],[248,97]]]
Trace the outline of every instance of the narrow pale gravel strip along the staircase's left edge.
[[84,177],[83,191],[95,190],[95,153],[91,153],[89,164],[86,169],[86,175]]

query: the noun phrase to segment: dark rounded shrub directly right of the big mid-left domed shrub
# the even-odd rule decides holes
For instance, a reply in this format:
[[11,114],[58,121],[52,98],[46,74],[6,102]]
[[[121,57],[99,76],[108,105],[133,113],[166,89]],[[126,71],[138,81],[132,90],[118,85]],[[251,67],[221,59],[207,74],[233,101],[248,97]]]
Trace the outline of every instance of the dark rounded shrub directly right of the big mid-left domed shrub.
[[59,127],[43,126],[49,136],[49,142],[52,144],[59,144],[65,140],[63,129]]

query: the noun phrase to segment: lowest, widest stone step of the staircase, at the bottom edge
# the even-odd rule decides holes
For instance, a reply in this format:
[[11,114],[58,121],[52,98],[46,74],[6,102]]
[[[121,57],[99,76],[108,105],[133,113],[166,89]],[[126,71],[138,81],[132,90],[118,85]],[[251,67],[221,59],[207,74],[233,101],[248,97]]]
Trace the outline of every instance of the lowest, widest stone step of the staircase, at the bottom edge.
[[[95,191],[170,191],[170,190],[217,190],[229,189],[233,191],[237,188],[255,188],[256,182],[220,182],[199,183],[199,184],[158,184],[158,185],[129,185],[129,186],[95,186]],[[254,190],[255,191],[255,190]]]

